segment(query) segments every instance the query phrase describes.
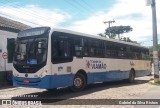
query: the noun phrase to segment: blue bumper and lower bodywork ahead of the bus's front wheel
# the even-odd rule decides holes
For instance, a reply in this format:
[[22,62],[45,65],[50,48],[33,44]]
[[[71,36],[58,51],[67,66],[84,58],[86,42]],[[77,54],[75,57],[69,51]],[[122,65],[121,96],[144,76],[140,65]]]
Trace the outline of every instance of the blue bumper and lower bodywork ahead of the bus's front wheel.
[[[34,88],[57,88],[71,86],[73,83],[73,74],[68,75],[47,75],[43,78],[20,78],[13,77],[13,86],[34,87]],[[24,83],[23,80],[29,80]]]

